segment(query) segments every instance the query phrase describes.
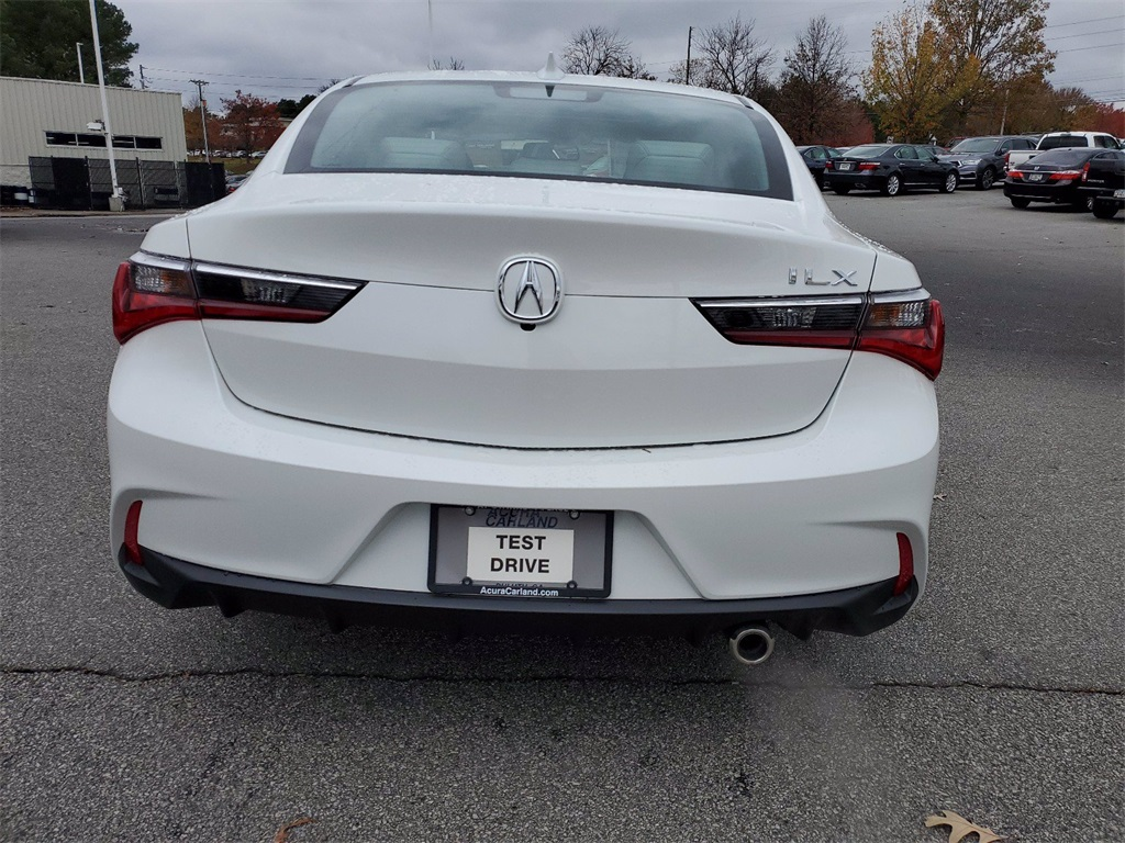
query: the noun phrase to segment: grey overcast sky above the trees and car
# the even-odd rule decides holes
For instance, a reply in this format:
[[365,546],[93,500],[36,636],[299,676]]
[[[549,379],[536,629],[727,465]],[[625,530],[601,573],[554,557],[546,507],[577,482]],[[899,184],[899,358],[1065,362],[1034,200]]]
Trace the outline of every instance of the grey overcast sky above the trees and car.
[[[333,79],[422,70],[430,58],[426,0],[115,0],[133,25],[150,87],[195,93],[209,82],[215,107],[235,89],[267,99],[300,99]],[[827,15],[844,29],[863,69],[871,31],[901,0],[432,0],[432,49],[468,70],[536,71],[585,26],[618,29],[657,79],[686,51],[687,27],[722,24],[736,13],[777,54],[798,31]],[[1125,102],[1125,2],[1052,0],[1046,39],[1059,53],[1051,80],[1094,99]]]

